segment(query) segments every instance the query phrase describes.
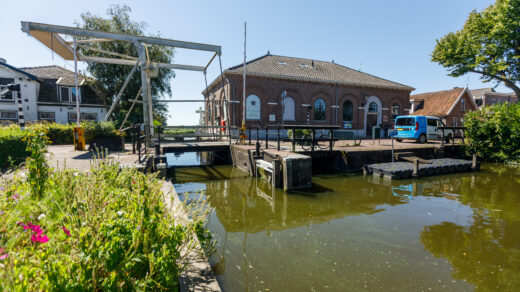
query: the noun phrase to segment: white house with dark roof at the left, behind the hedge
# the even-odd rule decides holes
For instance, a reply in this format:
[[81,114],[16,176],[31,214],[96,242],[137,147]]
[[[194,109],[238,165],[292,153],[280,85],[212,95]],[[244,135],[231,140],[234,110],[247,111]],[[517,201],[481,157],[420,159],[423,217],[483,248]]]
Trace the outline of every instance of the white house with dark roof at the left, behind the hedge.
[[[106,114],[101,98],[80,77],[76,94],[74,72],[60,66],[16,68],[0,59],[0,92],[7,84],[20,84],[24,119],[72,123],[76,121],[76,96],[80,99],[80,119],[100,121]],[[18,104],[11,92],[0,94],[0,123],[18,119]]]

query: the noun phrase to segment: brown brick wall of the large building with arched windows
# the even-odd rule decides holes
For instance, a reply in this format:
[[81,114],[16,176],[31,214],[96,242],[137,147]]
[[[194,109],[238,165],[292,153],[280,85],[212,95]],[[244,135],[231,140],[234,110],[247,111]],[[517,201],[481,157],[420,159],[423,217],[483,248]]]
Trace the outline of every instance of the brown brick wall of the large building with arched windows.
[[[229,84],[224,87],[229,99],[239,100],[239,104],[229,104],[228,124],[231,123],[240,126],[242,121],[242,76],[227,75]],[[391,109],[394,103],[400,108],[400,114],[408,114],[410,108],[410,92],[403,90],[381,89],[370,87],[354,87],[345,85],[335,85],[317,82],[292,81],[265,77],[248,76],[246,85],[246,97],[255,94],[261,101],[261,120],[246,121],[248,125],[260,125],[264,127],[268,124],[279,124],[282,117],[281,94],[287,91],[287,96],[292,97],[295,101],[295,121],[284,121],[284,124],[306,124],[307,109],[302,104],[310,104],[314,107],[314,102],[321,98],[326,103],[326,115],[324,121],[315,121],[313,111],[310,112],[311,124],[315,125],[343,125],[343,103],[345,101],[352,102],[353,105],[353,129],[364,130],[365,128],[365,109],[366,98],[376,96],[382,104],[381,125],[392,125]],[[337,92],[337,93],[336,93]],[[210,92],[210,99],[223,99],[224,91],[219,85]],[[339,108],[331,106],[337,104]],[[208,100],[206,98],[206,100]],[[269,105],[268,103],[277,103],[277,105]],[[206,102],[206,121],[211,124],[212,121],[224,119],[223,106],[213,106],[212,103]],[[210,108],[211,107],[211,108]],[[234,109],[233,109],[234,108]],[[210,110],[208,110],[210,109]],[[276,121],[269,121],[269,115],[275,115]],[[233,118],[234,117],[234,118]]]

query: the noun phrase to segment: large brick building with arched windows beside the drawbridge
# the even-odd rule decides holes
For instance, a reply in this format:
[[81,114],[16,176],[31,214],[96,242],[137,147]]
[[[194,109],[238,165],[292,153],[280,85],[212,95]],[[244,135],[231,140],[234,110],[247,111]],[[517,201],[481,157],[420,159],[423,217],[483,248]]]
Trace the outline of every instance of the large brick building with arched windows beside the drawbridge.
[[[365,136],[407,114],[414,88],[334,62],[267,54],[246,64],[246,124],[339,125]],[[243,65],[231,67],[202,93],[205,121],[240,126]],[[225,94],[231,101],[225,103]],[[283,120],[283,121],[282,121]]]

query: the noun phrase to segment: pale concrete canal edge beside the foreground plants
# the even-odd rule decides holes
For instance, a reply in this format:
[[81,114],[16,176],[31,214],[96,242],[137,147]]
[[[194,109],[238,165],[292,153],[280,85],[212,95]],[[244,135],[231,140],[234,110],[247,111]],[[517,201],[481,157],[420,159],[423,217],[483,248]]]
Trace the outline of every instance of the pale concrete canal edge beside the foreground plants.
[[[189,222],[190,219],[172,183],[163,181],[161,191],[166,207],[172,213],[174,220],[181,224]],[[185,256],[188,259],[188,265],[179,276],[179,291],[222,291],[196,236],[195,244],[196,246],[188,254],[186,250],[181,251],[181,257]]]

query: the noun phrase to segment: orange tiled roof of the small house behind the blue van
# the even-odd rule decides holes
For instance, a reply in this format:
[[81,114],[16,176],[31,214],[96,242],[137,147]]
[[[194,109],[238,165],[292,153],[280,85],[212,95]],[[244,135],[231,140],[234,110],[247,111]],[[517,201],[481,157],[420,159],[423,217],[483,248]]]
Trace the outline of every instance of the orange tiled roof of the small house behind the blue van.
[[[414,110],[413,114],[422,116],[446,116],[450,113],[453,105],[464,92],[469,93],[469,90],[467,90],[467,88],[455,87],[449,90],[411,95],[410,100],[424,101],[423,106]],[[471,101],[474,103],[473,98],[471,98]]]

